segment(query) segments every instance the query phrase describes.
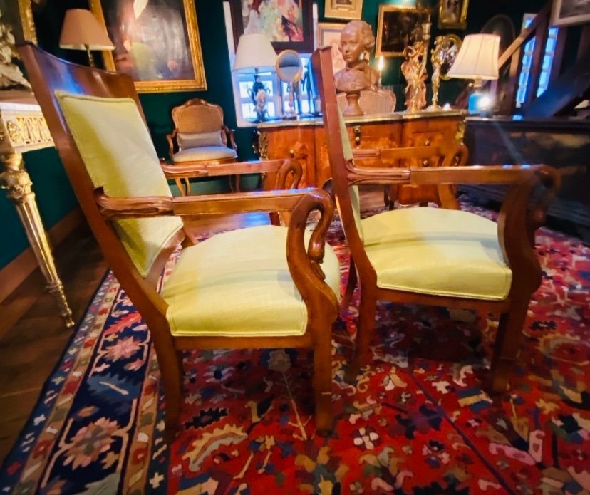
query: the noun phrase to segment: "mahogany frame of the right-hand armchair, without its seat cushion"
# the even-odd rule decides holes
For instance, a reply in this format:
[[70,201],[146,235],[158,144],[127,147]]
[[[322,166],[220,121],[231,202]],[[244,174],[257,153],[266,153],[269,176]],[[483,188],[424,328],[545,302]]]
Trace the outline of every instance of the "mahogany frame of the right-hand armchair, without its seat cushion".
[[[378,299],[396,303],[446,306],[448,308],[471,308],[478,311],[500,313],[490,375],[486,387],[491,392],[507,389],[509,371],[516,359],[519,339],[532,293],[541,283],[541,269],[534,254],[534,231],[544,222],[549,201],[559,187],[559,174],[547,165],[485,165],[456,167],[421,167],[421,160],[430,160],[432,147],[417,147],[406,150],[382,150],[388,157],[417,160],[414,167],[378,168],[360,167],[347,160],[341,139],[341,130],[336,103],[336,88],[333,82],[331,52],[319,48],[312,56],[314,73],[317,76],[321,95],[322,113],[326,140],[330,155],[333,190],[338,201],[342,225],[351,251],[351,277],[358,276],[361,288],[356,350],[349,365],[347,379],[354,380],[361,367],[369,364],[369,344],[375,327]],[[450,148],[452,149],[452,148]],[[445,152],[445,150],[438,150]],[[375,151],[379,153],[379,151]],[[451,155],[454,155],[452,152]],[[447,160],[446,158],[443,160]],[[483,301],[450,296],[397,291],[377,286],[376,272],[364,251],[363,243],[353,219],[353,209],[348,187],[354,184],[433,185],[447,187],[451,184],[507,184],[509,186],[498,217],[498,236],[504,261],[512,270],[512,286],[507,298],[502,301]],[[539,192],[541,189],[541,192]],[[446,194],[446,193],[445,193]],[[453,200],[452,198],[446,198]],[[452,207],[453,201],[451,201]],[[456,200],[454,200],[456,204]],[[351,285],[347,297],[350,301]]]

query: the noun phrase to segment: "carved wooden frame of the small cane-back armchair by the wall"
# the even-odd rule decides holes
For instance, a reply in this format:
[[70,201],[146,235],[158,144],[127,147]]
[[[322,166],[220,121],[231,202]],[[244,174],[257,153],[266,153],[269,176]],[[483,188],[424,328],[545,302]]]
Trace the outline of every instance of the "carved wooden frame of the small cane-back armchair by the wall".
[[[205,108],[209,108],[211,110],[215,110],[219,113],[219,132],[221,133],[221,137],[222,137],[222,142],[224,144],[224,146],[227,146],[229,143],[229,148],[231,148],[232,150],[234,150],[237,153],[237,144],[236,144],[236,140],[234,137],[234,130],[230,129],[229,127],[227,127],[227,125],[225,125],[223,123],[223,109],[219,106],[216,105],[214,103],[209,103],[207,100],[203,100],[202,98],[191,98],[190,100],[185,101],[185,103],[182,103],[182,105],[178,105],[174,108],[172,108],[172,122],[175,125],[175,128],[172,130],[172,132],[170,132],[170,134],[166,135],[166,140],[168,142],[168,155],[170,155],[170,160],[172,160],[172,162],[174,161],[174,154],[175,154],[175,150],[180,151],[180,146],[178,145],[178,141],[177,141],[177,135],[179,132],[185,132],[184,130],[180,130],[178,127],[178,114],[185,112],[187,110],[190,110],[193,107],[205,107]],[[189,131],[190,132],[190,131]],[[199,162],[207,162],[207,164],[209,165],[213,165],[213,164],[221,164],[221,163],[235,163],[237,162],[237,157],[235,158],[220,158],[218,160],[200,160],[200,161],[195,161],[195,163],[199,163]],[[182,162],[181,162],[182,163]],[[177,165],[179,165],[177,163]],[[230,176],[232,177],[232,176]],[[180,191],[180,194],[182,194],[183,196],[190,196],[191,194],[191,186],[190,186],[190,179],[192,177],[191,176],[186,176],[186,175],[180,175],[180,174],[175,174],[174,180],[175,183],[178,187],[178,190]],[[239,192],[239,174],[236,174],[233,176],[233,180],[234,182],[232,183],[230,180],[230,185],[232,186],[232,189],[235,189],[237,192]]]

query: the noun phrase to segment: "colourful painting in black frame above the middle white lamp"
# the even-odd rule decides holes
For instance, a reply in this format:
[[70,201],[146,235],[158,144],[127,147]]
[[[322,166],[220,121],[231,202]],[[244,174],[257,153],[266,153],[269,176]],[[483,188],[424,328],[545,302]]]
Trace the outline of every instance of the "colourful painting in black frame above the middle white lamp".
[[276,53],[314,51],[311,0],[229,0],[234,46],[244,33],[265,33]]

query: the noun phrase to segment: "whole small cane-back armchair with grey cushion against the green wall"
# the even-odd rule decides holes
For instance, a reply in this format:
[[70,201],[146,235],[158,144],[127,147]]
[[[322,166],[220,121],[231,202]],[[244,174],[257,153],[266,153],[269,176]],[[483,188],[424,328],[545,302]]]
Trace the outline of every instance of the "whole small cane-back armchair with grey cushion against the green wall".
[[[172,122],[175,128],[166,140],[173,164],[237,162],[234,131],[224,125],[223,110],[219,105],[192,98],[172,108]],[[239,190],[239,182],[234,180],[232,188]],[[175,182],[181,194],[190,194],[188,177],[175,177]]]

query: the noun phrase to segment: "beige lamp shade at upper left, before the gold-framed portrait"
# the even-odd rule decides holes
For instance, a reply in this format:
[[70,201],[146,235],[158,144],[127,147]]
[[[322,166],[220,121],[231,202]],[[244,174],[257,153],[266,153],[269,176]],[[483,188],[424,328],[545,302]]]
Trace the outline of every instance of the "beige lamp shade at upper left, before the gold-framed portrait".
[[86,9],[69,9],[63,19],[60,48],[73,50],[113,50],[115,45],[92,12]]

